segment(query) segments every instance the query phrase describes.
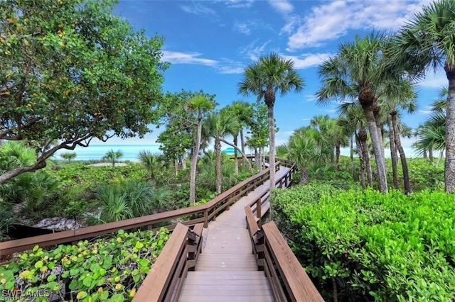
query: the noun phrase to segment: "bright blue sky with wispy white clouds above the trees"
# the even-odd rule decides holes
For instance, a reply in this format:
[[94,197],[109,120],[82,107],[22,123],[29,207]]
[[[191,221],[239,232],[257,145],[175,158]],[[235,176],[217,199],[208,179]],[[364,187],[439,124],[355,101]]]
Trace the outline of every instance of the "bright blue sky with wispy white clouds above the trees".
[[[277,144],[287,142],[296,128],[319,114],[336,117],[336,104],[317,106],[318,65],[335,54],[338,45],[371,30],[397,30],[429,1],[137,1],[120,0],[115,13],[149,37],[164,36],[164,91],[181,89],[216,94],[222,106],[235,100],[254,102],[237,94],[243,69],[261,55],[277,52],[294,60],[306,86],[300,94],[277,97]],[[404,121],[416,127],[429,113],[443,73],[429,72],[419,83],[419,109]],[[154,143],[156,131],[147,135]],[[112,138],[110,143],[119,142]],[[121,143],[121,142],[119,142]],[[124,143],[144,143],[137,139]],[[410,145],[405,140],[405,145]]]

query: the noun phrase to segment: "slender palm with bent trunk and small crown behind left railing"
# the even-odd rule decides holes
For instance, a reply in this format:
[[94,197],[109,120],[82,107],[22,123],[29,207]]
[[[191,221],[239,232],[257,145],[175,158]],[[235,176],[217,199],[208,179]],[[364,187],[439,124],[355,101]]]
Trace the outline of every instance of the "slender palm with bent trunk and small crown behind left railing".
[[202,125],[205,113],[215,108],[215,103],[203,95],[195,96],[188,103],[188,109],[196,113],[196,141],[191,153],[191,171],[190,171],[190,203],[196,201],[196,169],[198,167],[198,157],[200,142],[202,140]]

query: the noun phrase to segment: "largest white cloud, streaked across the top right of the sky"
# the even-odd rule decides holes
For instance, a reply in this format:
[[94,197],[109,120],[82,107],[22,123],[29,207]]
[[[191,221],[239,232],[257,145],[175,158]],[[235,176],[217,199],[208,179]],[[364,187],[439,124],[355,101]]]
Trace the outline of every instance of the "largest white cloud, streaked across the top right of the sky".
[[[327,40],[346,35],[348,30],[396,30],[415,12],[422,9],[428,0],[332,0],[314,6],[311,13],[301,16],[301,26],[289,36],[288,50],[315,47]],[[294,28],[291,19],[282,29],[289,32]]]

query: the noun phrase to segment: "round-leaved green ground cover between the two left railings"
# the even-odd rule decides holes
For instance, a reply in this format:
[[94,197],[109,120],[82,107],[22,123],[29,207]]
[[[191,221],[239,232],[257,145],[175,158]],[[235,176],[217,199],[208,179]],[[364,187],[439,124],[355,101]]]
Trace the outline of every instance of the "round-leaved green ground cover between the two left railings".
[[[0,267],[0,292],[47,293],[62,301],[131,301],[168,240],[168,230],[125,233],[94,242],[38,246]],[[65,293],[66,291],[66,293]],[[9,296],[6,296],[9,298]],[[11,299],[24,298],[11,296]],[[48,301],[48,296],[33,301]]]

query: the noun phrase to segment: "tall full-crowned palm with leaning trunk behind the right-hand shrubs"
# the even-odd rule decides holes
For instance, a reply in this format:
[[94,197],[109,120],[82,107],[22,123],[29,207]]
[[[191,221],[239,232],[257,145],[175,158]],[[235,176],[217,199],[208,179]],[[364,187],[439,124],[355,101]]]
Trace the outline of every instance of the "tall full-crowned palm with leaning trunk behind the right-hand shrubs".
[[396,91],[393,85],[396,79],[392,77],[395,74],[387,68],[382,55],[385,42],[385,35],[372,33],[363,39],[355,37],[353,43],[341,45],[338,55],[319,67],[322,88],[317,93],[319,104],[336,98],[350,98],[362,106],[370,130],[382,193],[387,192],[388,188],[382,135],[375,113],[378,115],[380,96]]

